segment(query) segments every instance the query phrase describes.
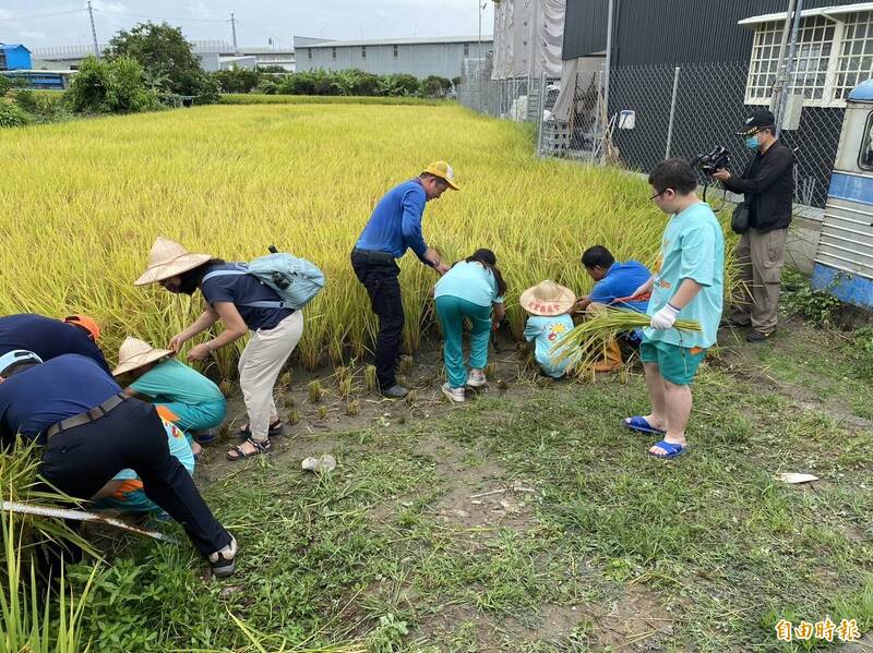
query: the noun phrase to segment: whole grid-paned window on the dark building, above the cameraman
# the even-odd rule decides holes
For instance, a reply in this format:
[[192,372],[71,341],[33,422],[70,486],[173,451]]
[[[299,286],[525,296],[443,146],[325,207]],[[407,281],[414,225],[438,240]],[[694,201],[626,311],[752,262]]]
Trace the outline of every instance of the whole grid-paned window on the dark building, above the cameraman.
[[[776,83],[782,22],[755,31],[745,104],[768,105]],[[873,76],[873,12],[808,16],[801,21],[789,86],[811,107],[845,107],[849,92]]]

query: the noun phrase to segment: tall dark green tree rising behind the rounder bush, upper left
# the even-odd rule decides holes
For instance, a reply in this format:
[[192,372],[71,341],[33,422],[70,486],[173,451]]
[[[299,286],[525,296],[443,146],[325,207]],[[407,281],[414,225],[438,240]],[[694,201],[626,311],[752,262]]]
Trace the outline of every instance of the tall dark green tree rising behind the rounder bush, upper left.
[[107,56],[135,59],[153,78],[166,77],[170,93],[198,96],[199,101],[218,99],[218,84],[203,71],[179,27],[146,22],[122,29],[109,41]]

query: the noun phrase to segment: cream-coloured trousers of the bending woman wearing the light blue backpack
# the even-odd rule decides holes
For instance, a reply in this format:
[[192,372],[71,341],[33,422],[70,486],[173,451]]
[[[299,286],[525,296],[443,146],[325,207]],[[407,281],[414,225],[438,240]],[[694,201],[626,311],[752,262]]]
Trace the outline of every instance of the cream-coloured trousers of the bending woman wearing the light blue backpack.
[[239,385],[253,440],[265,440],[271,418],[278,415],[273,386],[302,335],[303,313],[295,311],[272,329],[252,331],[239,358]]

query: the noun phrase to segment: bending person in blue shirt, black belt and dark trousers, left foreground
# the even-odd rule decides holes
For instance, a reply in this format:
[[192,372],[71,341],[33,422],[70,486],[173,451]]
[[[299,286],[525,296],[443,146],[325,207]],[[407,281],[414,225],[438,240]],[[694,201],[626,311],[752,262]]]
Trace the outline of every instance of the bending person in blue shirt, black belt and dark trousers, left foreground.
[[237,542],[170,456],[155,407],[125,397],[93,360],[63,354],[44,363],[22,350],[0,356],[0,438],[5,445],[16,435],[43,445],[43,477],[75,498],[91,499],[116,473],[132,469],[213,572],[234,573]]

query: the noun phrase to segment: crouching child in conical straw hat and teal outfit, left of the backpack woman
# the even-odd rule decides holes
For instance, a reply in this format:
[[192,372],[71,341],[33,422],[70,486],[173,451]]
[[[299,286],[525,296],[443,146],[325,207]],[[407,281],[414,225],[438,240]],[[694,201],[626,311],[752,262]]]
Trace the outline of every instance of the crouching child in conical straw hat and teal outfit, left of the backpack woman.
[[133,383],[124,394],[163,409],[163,416],[184,431],[189,444],[192,436],[196,440],[192,445],[196,455],[196,443],[215,438],[212,430],[224,421],[227,402],[218,386],[174,355],[169,349],[155,349],[143,340],[125,338],[112,376],[131,375]]

